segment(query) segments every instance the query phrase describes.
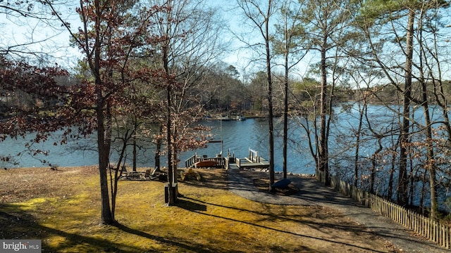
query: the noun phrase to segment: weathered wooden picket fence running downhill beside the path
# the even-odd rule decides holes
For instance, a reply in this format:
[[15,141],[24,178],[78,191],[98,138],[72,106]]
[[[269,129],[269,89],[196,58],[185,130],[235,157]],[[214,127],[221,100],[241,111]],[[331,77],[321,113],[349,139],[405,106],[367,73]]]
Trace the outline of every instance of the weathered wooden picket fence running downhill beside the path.
[[[324,182],[323,171],[316,171],[317,179]],[[424,238],[435,242],[441,247],[450,249],[451,247],[451,228],[438,221],[433,221],[421,214],[412,212],[400,205],[373,195],[367,191],[361,190],[355,186],[341,181],[337,176],[330,176],[330,186],[339,193],[351,197],[352,200],[359,202],[361,205],[371,208],[374,212],[378,212],[393,221],[402,224],[406,228],[423,235]]]

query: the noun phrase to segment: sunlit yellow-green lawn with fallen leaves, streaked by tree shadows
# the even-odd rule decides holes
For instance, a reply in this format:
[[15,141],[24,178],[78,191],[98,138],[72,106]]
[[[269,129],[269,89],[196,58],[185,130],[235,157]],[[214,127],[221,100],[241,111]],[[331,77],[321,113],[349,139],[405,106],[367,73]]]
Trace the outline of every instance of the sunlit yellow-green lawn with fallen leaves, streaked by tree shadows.
[[164,183],[119,181],[117,226],[99,225],[94,167],[0,171],[0,238],[40,239],[44,252],[392,252],[339,212],[268,205],[227,190],[226,171],[199,170],[164,204]]

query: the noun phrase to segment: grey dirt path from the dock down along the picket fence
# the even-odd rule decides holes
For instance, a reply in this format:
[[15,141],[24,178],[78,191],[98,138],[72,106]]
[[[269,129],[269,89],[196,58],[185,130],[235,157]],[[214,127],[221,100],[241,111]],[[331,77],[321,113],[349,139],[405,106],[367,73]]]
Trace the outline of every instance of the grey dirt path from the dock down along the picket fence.
[[[316,179],[301,176],[288,176],[300,189],[299,193],[290,196],[273,195],[263,192],[254,186],[253,180],[267,178],[266,172],[229,169],[228,188],[230,191],[248,200],[276,205],[320,205],[336,209],[350,219],[371,229],[375,235],[393,243],[402,252],[450,252],[424,238],[412,236],[412,231],[381,216],[371,209],[362,207],[349,197],[336,193],[331,188],[323,186]],[[281,179],[276,174],[276,180]]]

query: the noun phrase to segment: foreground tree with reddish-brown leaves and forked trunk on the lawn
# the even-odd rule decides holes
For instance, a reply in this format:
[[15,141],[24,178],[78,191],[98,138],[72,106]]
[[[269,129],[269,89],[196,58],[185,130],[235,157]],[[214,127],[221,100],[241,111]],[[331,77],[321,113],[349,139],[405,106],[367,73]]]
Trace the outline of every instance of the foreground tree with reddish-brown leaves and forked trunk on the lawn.
[[[82,27],[73,32],[69,23],[56,10],[54,2],[45,1],[45,4],[61,21],[61,25],[70,32],[75,45],[80,48],[85,57],[87,70],[92,77],[82,82],[83,91],[87,93],[79,94],[79,96],[91,96],[92,100],[85,98],[83,101],[83,99],[74,98],[71,106],[82,105],[81,101],[93,103],[91,108],[87,107],[91,110],[82,112],[88,112],[84,117],[92,119],[91,124],[85,126],[97,131],[101,222],[114,223],[116,221],[114,212],[111,210],[106,174],[110,163],[112,119],[116,113],[115,110],[124,106],[121,91],[130,86],[132,79],[158,76],[159,72],[151,69],[136,72],[130,64],[133,63],[132,58],[136,57],[135,53],[152,44],[156,39],[153,34],[147,34],[150,25],[149,17],[161,9],[159,6],[153,6],[143,11],[136,1],[80,1],[77,12],[82,20]],[[116,189],[112,188],[112,190],[114,193]]]

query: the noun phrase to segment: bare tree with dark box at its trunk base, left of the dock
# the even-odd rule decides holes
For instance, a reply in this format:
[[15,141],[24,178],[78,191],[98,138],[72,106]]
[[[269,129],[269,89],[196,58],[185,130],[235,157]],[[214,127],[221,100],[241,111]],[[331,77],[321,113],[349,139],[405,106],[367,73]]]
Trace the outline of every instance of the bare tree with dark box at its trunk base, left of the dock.
[[[191,110],[201,100],[199,94],[192,93],[193,86],[204,82],[202,71],[221,55],[223,47],[218,38],[222,28],[216,11],[207,8],[205,1],[152,0],[149,4],[161,5],[166,9],[165,13],[160,13],[152,19],[155,24],[152,32],[162,38],[155,44],[161,57],[159,64],[173,80],[173,83],[166,85],[166,125],[161,130],[166,131],[168,205],[174,205],[177,193],[177,155],[183,150],[180,148],[181,143],[176,141],[180,140],[180,134],[183,134],[183,129],[178,128],[189,125],[182,122],[175,124],[175,119],[187,119],[182,116],[189,111],[196,113],[191,119],[202,115],[198,110]],[[200,141],[199,146],[202,145],[204,143]]]

